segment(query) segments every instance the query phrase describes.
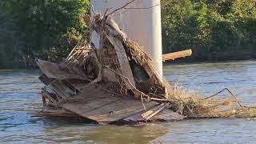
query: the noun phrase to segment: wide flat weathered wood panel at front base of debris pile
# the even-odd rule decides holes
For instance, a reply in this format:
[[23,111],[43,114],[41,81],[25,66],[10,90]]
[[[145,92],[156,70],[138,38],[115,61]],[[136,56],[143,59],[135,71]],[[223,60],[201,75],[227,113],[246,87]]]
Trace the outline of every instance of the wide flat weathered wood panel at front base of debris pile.
[[[144,102],[146,109],[156,106],[158,102]],[[86,103],[66,103],[63,108],[84,118],[96,122],[110,123],[144,111],[142,102],[129,98],[101,98]]]

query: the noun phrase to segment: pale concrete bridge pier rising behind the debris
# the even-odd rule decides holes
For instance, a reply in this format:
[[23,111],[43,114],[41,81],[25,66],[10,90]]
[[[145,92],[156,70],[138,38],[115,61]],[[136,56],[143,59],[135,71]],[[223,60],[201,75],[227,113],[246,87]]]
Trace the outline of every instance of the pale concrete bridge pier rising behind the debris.
[[[106,9],[115,10],[131,0],[90,0],[96,13],[104,14]],[[162,75],[162,31],[160,0],[137,0],[114,14],[128,38],[143,46],[154,60],[156,70]],[[98,43],[98,35],[93,34],[93,42]],[[98,46],[96,46],[98,47]]]

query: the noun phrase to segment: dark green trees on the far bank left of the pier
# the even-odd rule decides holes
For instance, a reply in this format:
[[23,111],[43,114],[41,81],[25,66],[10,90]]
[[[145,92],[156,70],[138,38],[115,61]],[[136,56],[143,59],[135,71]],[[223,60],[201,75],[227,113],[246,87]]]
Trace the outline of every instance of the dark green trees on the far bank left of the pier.
[[[8,54],[0,66],[35,57],[54,59],[73,47],[86,26],[81,15],[89,13],[89,0],[2,0],[0,2],[0,54]],[[16,58],[15,60],[12,58]]]

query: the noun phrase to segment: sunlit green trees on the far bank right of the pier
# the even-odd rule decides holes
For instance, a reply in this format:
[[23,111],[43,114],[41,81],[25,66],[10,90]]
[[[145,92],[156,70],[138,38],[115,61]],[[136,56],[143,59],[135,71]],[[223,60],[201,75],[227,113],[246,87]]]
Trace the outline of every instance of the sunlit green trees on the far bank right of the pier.
[[162,0],[164,53],[192,48],[191,61],[254,58],[255,0]]

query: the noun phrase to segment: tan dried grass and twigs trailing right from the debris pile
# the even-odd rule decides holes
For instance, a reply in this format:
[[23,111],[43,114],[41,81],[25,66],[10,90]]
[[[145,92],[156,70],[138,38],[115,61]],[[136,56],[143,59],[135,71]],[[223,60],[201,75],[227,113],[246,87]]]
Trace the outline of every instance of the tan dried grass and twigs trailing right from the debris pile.
[[[227,92],[226,96],[218,94]],[[185,90],[178,85],[174,86],[174,97],[180,99],[173,110],[185,114],[188,118],[252,118],[256,116],[256,107],[242,106],[229,89],[224,89],[210,97],[202,97],[198,91]]]

